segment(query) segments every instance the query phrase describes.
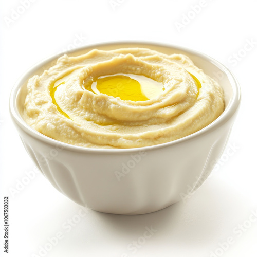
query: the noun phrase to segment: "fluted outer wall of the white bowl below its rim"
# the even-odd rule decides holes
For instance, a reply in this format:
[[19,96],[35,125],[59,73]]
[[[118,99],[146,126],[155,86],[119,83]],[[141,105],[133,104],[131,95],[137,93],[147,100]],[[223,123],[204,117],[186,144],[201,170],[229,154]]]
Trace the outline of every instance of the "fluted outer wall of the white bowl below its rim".
[[101,212],[142,214],[186,199],[199,187],[221,156],[230,126],[164,148],[124,154],[60,149],[19,132],[35,164],[68,198]]

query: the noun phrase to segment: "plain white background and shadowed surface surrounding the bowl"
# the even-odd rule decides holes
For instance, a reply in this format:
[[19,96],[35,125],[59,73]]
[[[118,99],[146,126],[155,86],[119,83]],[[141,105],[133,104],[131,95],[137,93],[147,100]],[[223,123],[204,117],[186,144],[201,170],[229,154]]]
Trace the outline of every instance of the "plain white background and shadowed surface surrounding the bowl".
[[[9,253],[4,253],[1,227],[0,255],[257,256],[257,219],[252,218],[252,212],[257,212],[256,2],[25,2],[26,9],[22,0],[2,0],[0,7],[0,202],[3,208],[3,197],[8,195],[10,212]],[[12,86],[33,64],[75,45],[115,40],[150,40],[204,52],[227,65],[242,88],[240,112],[226,150],[232,155],[225,151],[212,176],[194,195],[146,215],[90,210],[85,214],[85,209],[34,172],[8,112]],[[145,227],[151,226],[155,232],[144,242]],[[58,242],[49,243],[57,235]],[[130,244],[138,240],[143,244],[133,250]]]

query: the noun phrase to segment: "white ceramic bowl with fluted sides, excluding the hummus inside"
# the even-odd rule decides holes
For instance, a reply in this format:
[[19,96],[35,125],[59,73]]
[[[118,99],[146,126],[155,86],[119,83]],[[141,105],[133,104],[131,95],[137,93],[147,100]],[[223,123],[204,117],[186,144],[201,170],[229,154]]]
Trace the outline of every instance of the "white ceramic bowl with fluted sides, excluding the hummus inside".
[[221,63],[194,50],[149,42],[115,42],[83,46],[68,54],[91,49],[147,47],[167,54],[187,54],[196,66],[216,79],[225,92],[225,111],[202,130],[181,139],[134,149],[90,149],[56,141],[25,123],[21,111],[26,83],[42,74],[60,54],[28,70],[14,85],[10,113],[25,149],[51,184],[82,206],[116,214],[142,214],[170,206],[195,190],[210,174],[229,138],[240,87]]

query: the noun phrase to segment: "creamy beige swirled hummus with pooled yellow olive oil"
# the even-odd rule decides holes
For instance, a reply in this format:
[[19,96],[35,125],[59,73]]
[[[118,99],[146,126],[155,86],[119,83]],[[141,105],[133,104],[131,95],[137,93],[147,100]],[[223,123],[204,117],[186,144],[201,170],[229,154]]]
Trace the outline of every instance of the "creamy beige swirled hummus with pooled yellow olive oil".
[[66,54],[27,84],[25,121],[89,148],[138,148],[201,130],[224,111],[221,86],[183,54],[146,48]]

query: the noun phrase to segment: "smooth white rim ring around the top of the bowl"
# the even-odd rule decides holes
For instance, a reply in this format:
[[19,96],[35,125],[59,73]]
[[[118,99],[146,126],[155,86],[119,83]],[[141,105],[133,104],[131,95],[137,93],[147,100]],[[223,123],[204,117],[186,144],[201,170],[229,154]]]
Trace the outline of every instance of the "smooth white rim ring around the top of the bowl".
[[[21,117],[19,110],[16,106],[17,102],[17,94],[20,91],[20,87],[24,84],[26,80],[28,80],[31,77],[31,74],[33,74],[36,70],[38,70],[40,67],[43,67],[46,63],[49,63],[53,61],[54,59],[59,58],[63,54],[72,54],[74,52],[87,49],[87,48],[97,48],[97,47],[102,47],[102,46],[109,46],[109,45],[121,45],[121,44],[131,44],[131,47],[139,47],[139,45],[149,45],[149,46],[158,46],[158,47],[167,47],[167,48],[174,48],[177,49],[178,51],[183,51],[183,52],[188,52],[190,54],[194,54],[196,56],[199,56],[200,58],[203,58],[207,60],[208,62],[211,62],[214,64],[216,67],[221,69],[229,78],[229,81],[231,83],[231,87],[233,90],[233,97],[230,100],[228,106],[226,106],[224,112],[213,122],[211,122],[209,125],[206,127],[202,128],[201,130],[190,134],[186,137],[182,137],[170,142],[166,143],[160,143],[160,144],[155,144],[155,145],[150,145],[150,146],[141,146],[139,148],[119,148],[119,149],[104,149],[104,148],[88,148],[84,146],[78,146],[78,145],[72,145],[68,143],[64,143],[61,141],[58,141],[56,139],[52,139],[48,136],[45,136],[41,134],[40,132],[36,131],[34,128],[29,126]],[[133,46],[138,45],[138,46]],[[194,139],[196,137],[199,137],[200,135],[210,133],[211,131],[215,130],[217,127],[221,126],[222,124],[226,123],[237,111],[238,106],[240,105],[241,102],[241,89],[240,85],[233,75],[233,73],[227,68],[225,65],[220,63],[219,61],[215,60],[214,58],[208,56],[205,53],[199,52],[197,50],[193,50],[187,47],[181,47],[178,45],[174,44],[167,44],[167,43],[162,43],[162,42],[155,42],[155,41],[133,41],[133,40],[126,40],[126,41],[107,41],[107,42],[102,42],[102,43],[93,43],[93,44],[86,44],[80,47],[76,47],[72,50],[68,51],[62,51],[58,52],[56,54],[52,54],[50,57],[47,57],[37,63],[35,63],[32,67],[27,69],[24,74],[15,82],[14,86],[12,87],[10,98],[9,98],[9,112],[12,117],[13,122],[18,125],[20,128],[22,128],[23,131],[25,131],[27,134],[30,136],[43,141],[44,143],[53,145],[53,146],[61,146],[63,149],[69,149],[71,151],[77,151],[77,152],[91,152],[91,153],[134,153],[134,152],[140,152],[140,151],[149,151],[149,150],[155,150],[155,149],[160,149],[160,148],[166,148],[167,146],[175,145],[178,143],[186,142],[191,139]]]

